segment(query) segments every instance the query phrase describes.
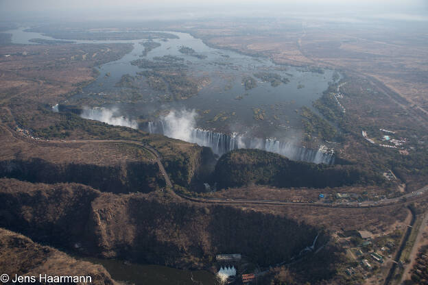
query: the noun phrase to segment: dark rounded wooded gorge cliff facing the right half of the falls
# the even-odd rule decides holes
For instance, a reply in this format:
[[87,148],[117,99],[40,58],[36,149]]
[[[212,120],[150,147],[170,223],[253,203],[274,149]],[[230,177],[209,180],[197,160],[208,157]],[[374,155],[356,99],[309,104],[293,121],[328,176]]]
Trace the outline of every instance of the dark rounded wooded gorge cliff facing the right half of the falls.
[[220,188],[248,184],[325,188],[383,181],[379,175],[357,166],[294,161],[258,149],[237,149],[226,153],[215,166],[215,179]]

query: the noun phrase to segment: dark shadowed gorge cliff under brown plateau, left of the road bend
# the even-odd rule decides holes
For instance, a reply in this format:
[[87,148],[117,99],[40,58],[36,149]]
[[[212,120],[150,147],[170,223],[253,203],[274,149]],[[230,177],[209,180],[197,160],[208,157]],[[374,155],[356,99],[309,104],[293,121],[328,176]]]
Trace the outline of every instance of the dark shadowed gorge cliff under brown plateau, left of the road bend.
[[0,162],[0,177],[47,184],[75,182],[111,193],[148,193],[158,186],[165,186],[156,162],[145,161],[97,165],[58,164],[41,158],[3,160]]

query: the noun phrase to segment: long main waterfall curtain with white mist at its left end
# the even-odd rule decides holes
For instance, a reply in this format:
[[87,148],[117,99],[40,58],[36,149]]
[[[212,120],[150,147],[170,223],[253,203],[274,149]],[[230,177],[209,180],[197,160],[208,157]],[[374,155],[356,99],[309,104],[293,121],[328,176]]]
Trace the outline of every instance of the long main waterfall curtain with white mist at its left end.
[[165,121],[154,121],[147,123],[147,131],[151,134],[163,134],[171,138],[186,140],[189,143],[196,143],[204,147],[211,147],[213,152],[222,156],[233,149],[263,149],[273,153],[279,153],[291,160],[305,162],[333,164],[334,151],[321,145],[319,149],[309,149],[296,145],[292,141],[280,141],[276,138],[248,138],[237,133],[231,135],[220,132],[213,132],[208,129],[194,127],[179,135],[174,132],[175,125]]

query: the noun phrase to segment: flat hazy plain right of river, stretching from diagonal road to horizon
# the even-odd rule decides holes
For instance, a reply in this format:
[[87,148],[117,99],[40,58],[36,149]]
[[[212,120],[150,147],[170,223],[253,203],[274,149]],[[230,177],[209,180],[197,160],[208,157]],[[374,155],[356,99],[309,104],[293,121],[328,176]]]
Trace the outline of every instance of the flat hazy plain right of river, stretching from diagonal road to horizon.
[[207,21],[189,26],[187,31],[216,47],[268,56],[282,64],[330,66],[374,77],[409,105],[416,104],[427,118],[428,51],[420,26],[297,20]]

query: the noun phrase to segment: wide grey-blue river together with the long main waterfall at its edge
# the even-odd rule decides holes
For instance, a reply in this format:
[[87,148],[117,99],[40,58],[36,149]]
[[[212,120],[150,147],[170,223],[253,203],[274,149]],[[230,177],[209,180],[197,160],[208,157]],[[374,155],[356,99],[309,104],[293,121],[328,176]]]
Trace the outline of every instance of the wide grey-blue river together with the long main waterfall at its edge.
[[[29,42],[31,38],[56,40],[25,32],[23,28],[8,33],[12,34],[12,42],[18,44],[34,44]],[[280,66],[266,58],[214,49],[190,34],[165,33],[176,38],[155,38],[153,42],[160,46],[146,55],[143,55],[143,43],[148,40],[73,40],[75,44],[132,43],[133,49],[119,60],[98,66],[100,76],[82,92],[69,98],[68,103],[114,110],[109,114],[125,115],[126,125],[139,125],[145,131],[151,131],[156,121],[165,125],[162,114],[172,110],[176,115],[169,118],[167,124],[172,127],[169,131],[162,128],[161,134],[211,147],[219,155],[233,148],[247,147],[281,153],[294,160],[333,163],[331,149],[326,153],[320,145],[313,149],[302,148],[300,108],[306,106],[317,112],[312,108],[313,101],[328,88],[329,82],[340,79],[338,73],[329,69],[313,72],[301,67]],[[180,47],[190,47],[200,57],[183,54]],[[155,90],[147,78],[137,74],[151,69],[140,69],[131,64],[139,59],[156,62],[156,58],[165,55],[182,58],[183,71],[198,84],[197,95],[171,100],[171,90]],[[254,76],[257,73],[274,74],[288,82],[272,86]],[[132,77],[131,86],[118,86],[123,75]],[[243,77],[252,77],[257,86],[246,90]],[[113,124],[122,121],[106,119],[105,114],[97,114],[98,110],[88,112],[86,118],[103,118],[106,123]],[[204,131],[195,131],[198,129]]]

